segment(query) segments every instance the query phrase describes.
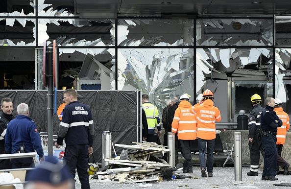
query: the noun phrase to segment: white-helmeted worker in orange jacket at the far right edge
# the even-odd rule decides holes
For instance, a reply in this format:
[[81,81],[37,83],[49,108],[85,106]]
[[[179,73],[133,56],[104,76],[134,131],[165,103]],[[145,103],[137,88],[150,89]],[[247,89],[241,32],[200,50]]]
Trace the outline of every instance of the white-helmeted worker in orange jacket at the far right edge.
[[[283,145],[285,144],[286,141],[286,133],[290,128],[290,118],[288,116],[288,114],[286,112],[283,111],[282,108],[282,101],[279,98],[275,98],[275,108],[274,111],[276,112],[277,116],[282,120],[283,124],[281,127],[277,128],[277,142],[276,142],[276,146],[277,146],[277,152],[278,155],[281,157],[281,153],[282,153],[282,148]],[[278,158],[277,158],[277,172],[279,172],[279,165],[284,169],[284,175],[286,175],[288,173],[289,170],[289,166],[290,164],[286,164],[286,161],[284,161],[285,165],[283,164],[280,165],[278,162]]]

